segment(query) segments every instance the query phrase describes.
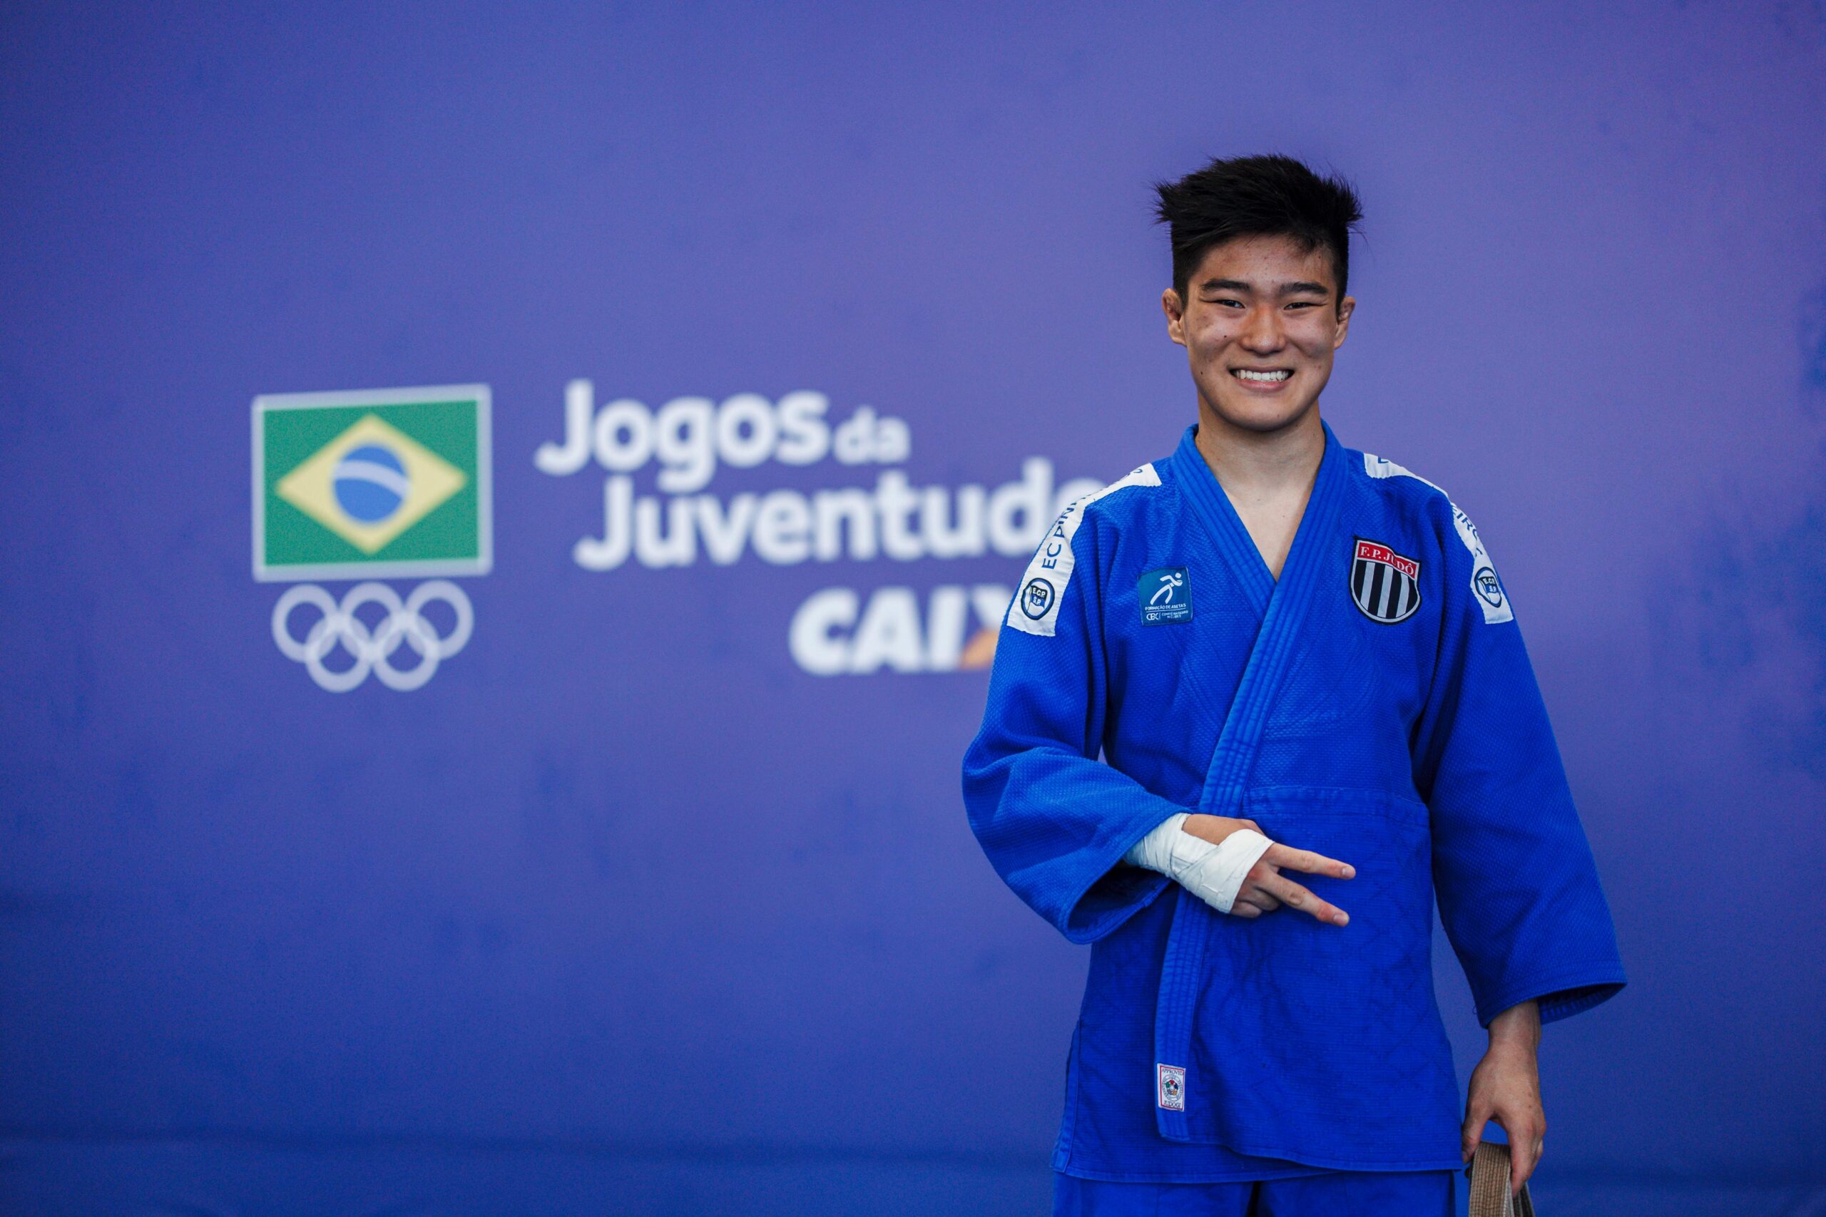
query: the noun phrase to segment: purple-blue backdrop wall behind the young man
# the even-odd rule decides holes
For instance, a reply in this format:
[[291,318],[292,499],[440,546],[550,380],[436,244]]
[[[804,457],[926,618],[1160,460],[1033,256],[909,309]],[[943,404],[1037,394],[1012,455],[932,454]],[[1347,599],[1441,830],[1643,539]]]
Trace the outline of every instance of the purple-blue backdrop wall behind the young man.
[[[1021,558],[584,569],[604,471],[535,452],[590,380],[906,423],[723,509],[1116,476],[1192,416],[1149,182],[1264,150],[1366,197],[1326,416],[1477,520],[1618,918],[1631,987],[1543,1047],[1548,1212],[1826,1212],[1800,4],[9,7],[0,1210],[1041,1212],[1085,952],[957,794],[955,604]],[[473,639],[323,692],[248,401],[449,383]],[[867,666],[844,589],[889,661],[809,671],[814,600]]]

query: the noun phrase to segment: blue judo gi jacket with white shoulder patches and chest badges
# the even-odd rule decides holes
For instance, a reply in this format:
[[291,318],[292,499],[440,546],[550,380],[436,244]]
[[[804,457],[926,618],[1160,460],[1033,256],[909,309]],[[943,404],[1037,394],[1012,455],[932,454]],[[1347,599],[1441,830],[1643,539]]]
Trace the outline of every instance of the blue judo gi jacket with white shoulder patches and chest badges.
[[[1061,513],[964,757],[995,870],[1094,943],[1054,1168],[1459,1170],[1435,896],[1483,1024],[1623,985],[1508,593],[1444,493],[1329,427],[1276,582],[1194,432]],[[1225,916],[1121,861],[1176,812],[1351,863],[1293,876],[1349,925]]]

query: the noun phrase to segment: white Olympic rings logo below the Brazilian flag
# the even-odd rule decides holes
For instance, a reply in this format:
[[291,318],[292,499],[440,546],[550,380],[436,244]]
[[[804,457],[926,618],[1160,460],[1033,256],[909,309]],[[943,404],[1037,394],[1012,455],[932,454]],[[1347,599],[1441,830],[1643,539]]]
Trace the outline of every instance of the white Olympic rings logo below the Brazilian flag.
[[[447,635],[438,635],[436,628],[425,620],[422,609],[433,600],[442,600],[456,613],[456,624]],[[367,626],[356,611],[367,604],[378,604],[387,615]],[[310,626],[303,640],[292,635],[292,613],[299,608],[312,608],[321,617]],[[418,584],[413,593],[400,600],[387,584],[356,584],[336,602],[316,584],[296,584],[287,588],[279,602],[272,606],[272,640],[279,651],[301,662],[310,679],[331,693],[347,693],[374,673],[391,690],[415,690],[436,675],[438,664],[469,642],[475,628],[475,609],[462,588],[447,578],[433,578]],[[418,662],[409,668],[394,668],[393,657],[400,646],[407,646],[418,655]],[[343,671],[325,666],[336,648],[354,657],[354,664]]]

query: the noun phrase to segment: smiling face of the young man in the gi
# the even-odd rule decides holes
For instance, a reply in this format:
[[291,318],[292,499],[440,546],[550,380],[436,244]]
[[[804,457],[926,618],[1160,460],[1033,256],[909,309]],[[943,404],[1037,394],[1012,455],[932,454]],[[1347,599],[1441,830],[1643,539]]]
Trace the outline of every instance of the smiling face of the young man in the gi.
[[1167,334],[1185,347],[1200,420],[1275,432],[1306,420],[1331,380],[1357,301],[1337,297],[1331,252],[1287,235],[1212,246],[1187,285],[1167,288]]

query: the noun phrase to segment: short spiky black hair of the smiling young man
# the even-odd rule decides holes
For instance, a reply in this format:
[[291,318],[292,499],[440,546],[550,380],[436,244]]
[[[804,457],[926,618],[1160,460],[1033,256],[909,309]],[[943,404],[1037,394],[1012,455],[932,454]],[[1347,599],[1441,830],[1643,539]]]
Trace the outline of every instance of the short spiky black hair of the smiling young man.
[[1172,286],[1185,303],[1192,272],[1212,246],[1234,237],[1289,235],[1307,252],[1326,246],[1338,281],[1349,277],[1351,228],[1362,203],[1342,177],[1320,177],[1293,157],[1216,159],[1176,182],[1156,182],[1156,217],[1172,243]]

